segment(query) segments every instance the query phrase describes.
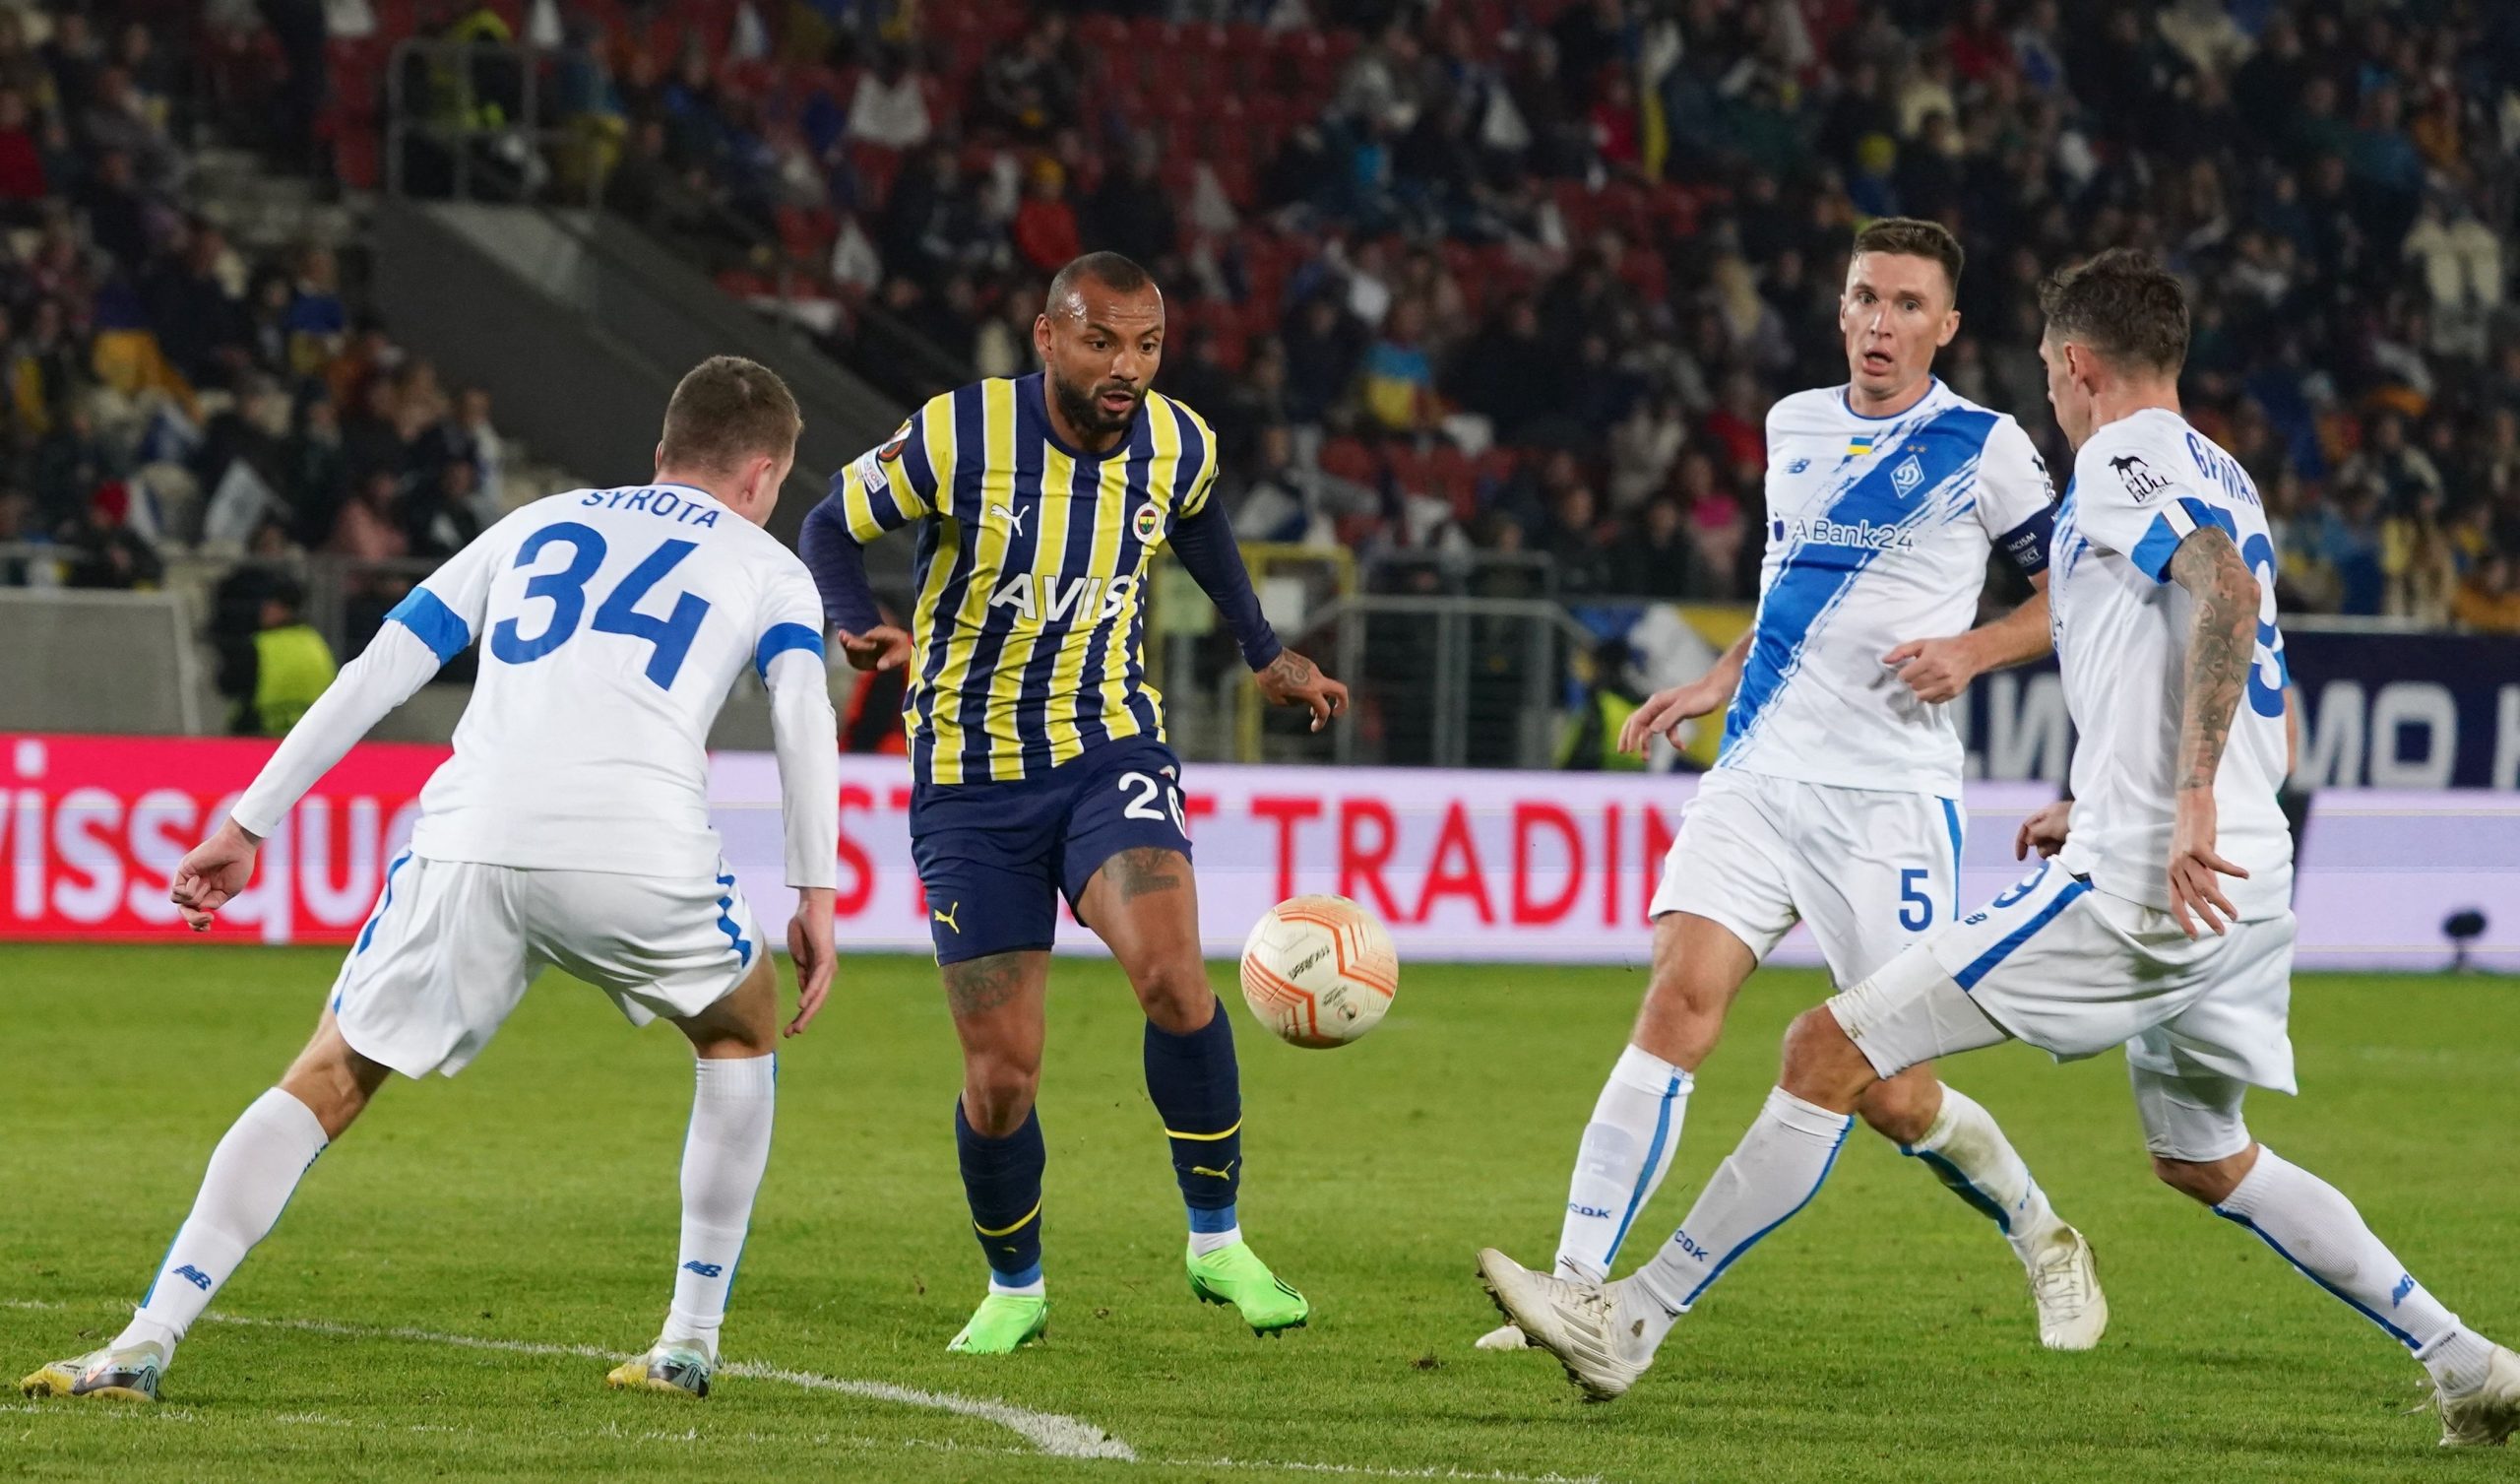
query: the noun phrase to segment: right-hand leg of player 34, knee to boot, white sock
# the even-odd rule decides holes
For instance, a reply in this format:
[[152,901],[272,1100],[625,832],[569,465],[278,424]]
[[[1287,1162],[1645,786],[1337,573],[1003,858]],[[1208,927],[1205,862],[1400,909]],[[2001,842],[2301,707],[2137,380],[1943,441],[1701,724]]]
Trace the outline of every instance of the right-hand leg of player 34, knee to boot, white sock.
[[683,1240],[673,1308],[643,1356],[605,1376],[617,1391],[703,1398],[718,1368],[718,1325],[736,1287],[753,1194],[771,1162],[779,1099],[779,970],[761,955],[743,983],[688,1020],[693,1051],[690,1129],[683,1134]]

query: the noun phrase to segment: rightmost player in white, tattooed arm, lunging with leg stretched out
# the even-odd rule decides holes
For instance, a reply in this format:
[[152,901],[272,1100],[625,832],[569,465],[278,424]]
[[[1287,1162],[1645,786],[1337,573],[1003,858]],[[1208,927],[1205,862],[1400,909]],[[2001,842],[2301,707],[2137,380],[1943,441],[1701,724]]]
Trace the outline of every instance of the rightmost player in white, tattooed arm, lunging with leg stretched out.
[[2039,869],[1794,1020],[1767,1109],[1643,1270],[1608,1287],[1497,1252],[1482,1270],[1585,1391],[1618,1396],[1683,1303],[1819,1192],[1867,1086],[2008,1038],[2059,1061],[2124,1046],[2155,1174],[2407,1345],[2442,1446],[2500,1444],[2520,1426],[2520,1356],[2240,1119],[2250,1086],[2293,1091],[2286,673],[2258,491],[2180,416],[2187,302],[2114,249],[2049,280],[2041,307],[2049,401],[2076,446],[2051,600],[2082,743],[2074,799],[2016,839]]

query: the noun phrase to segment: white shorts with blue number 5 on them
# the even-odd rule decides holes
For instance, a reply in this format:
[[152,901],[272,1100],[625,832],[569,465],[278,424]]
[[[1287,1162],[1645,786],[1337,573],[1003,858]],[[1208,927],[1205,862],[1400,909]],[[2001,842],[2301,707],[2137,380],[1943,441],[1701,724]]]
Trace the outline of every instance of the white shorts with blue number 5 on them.
[[1716,768],[1681,811],[1651,915],[1693,912],[1767,957],[1809,922],[1840,985],[1958,912],[1956,799]]

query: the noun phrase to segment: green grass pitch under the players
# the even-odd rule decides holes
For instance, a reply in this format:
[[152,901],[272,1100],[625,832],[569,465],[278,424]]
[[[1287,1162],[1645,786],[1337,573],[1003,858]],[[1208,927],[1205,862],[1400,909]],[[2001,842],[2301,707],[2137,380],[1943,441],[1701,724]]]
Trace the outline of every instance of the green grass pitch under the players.
[[[307,1033],[323,950],[0,950],[5,1378],[111,1335],[227,1121]],[[1295,1479],[1245,1464],[1605,1479],[2515,1479],[2399,1416],[2422,1373],[2248,1235],[2157,1189],[2117,1056],[1956,1063],[2099,1247],[2114,1328],[2046,1356],[1986,1219],[1857,1134],[1830,1189],[1681,1323],[1653,1376],[1583,1406],[1494,1323],[1472,1252],[1550,1255],[1567,1156],[1641,975],[1409,965],[1399,1008],[1323,1053],[1242,1041],[1257,1250],[1315,1303],[1257,1340],[1192,1303],[1139,1088],[1139,1018],[1058,962],[1043,1121],[1051,1338],[945,1340],[980,1295],[955,1179],[953,1033],[935,970],[844,962],[784,1053],[779,1141],[728,1361],[1068,1413],[1139,1464],[1031,1456],[980,1418],[771,1378],[703,1406],[600,1388],[602,1363],[413,1328],[630,1353],[665,1310],[688,1053],[549,978],[454,1083],[391,1086],[219,1295],[159,1408],[0,1411],[0,1476]],[[1220,988],[1227,978],[1217,975]],[[1769,973],[1706,1068],[1625,1265],[1668,1237],[1774,1073]],[[2306,978],[2301,1101],[2255,1129],[2354,1194],[2472,1323],[2520,1335],[2520,995],[2507,980]],[[1018,1449],[1011,1454],[1011,1449]]]

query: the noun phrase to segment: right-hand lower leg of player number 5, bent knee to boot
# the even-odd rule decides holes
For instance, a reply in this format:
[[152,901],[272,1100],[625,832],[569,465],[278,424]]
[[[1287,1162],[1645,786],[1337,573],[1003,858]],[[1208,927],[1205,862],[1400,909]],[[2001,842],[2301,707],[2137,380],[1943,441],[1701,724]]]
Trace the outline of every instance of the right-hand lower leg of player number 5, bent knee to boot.
[[2041,1345],[2089,1350],[2099,1343],[2109,1328],[2109,1298],[2099,1290],[2092,1245],[2056,1217],[1993,1114],[1968,1093],[1938,1083],[1928,1066],[1872,1083],[1855,1111],[1973,1212],[1996,1222],[2029,1275]]

